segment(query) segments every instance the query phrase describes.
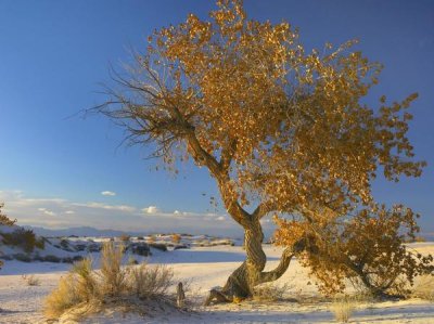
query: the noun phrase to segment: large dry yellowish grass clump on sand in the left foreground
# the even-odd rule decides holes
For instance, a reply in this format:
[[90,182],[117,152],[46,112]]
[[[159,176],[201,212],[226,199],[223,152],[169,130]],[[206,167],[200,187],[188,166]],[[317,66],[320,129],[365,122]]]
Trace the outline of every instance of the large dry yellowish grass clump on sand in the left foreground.
[[101,269],[93,270],[92,261],[85,259],[74,264],[62,277],[59,287],[46,299],[44,315],[59,319],[65,312],[92,313],[105,307],[123,306],[131,311],[144,313],[145,302],[175,304],[168,288],[174,273],[164,265],[122,267],[124,247],[113,242],[103,245]]

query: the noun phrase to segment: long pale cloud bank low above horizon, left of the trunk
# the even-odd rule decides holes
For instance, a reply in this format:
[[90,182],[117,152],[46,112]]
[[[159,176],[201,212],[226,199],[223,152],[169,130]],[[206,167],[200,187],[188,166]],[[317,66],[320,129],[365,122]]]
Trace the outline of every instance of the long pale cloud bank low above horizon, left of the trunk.
[[[98,202],[72,202],[64,198],[27,197],[18,191],[0,191],[4,212],[21,225],[51,229],[93,226],[143,232],[184,232],[191,234],[237,235],[242,229],[225,215],[183,211],[164,212],[157,206],[137,208]],[[55,217],[54,217],[55,216]],[[226,221],[218,221],[217,219]]]

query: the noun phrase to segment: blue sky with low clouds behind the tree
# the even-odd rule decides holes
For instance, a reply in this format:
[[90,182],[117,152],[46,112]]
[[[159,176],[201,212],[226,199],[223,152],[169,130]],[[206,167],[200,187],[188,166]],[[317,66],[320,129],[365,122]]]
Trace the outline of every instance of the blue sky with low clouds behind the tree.
[[[22,224],[227,234],[234,223],[209,205],[205,170],[177,179],[153,171],[143,147],[100,117],[75,114],[103,99],[108,65],[128,62],[153,29],[200,16],[214,1],[0,1],[0,202]],[[250,17],[298,26],[307,48],[358,38],[385,68],[368,100],[418,91],[409,137],[429,163],[421,179],[374,183],[375,197],[405,203],[434,232],[434,2],[245,0]],[[71,117],[72,116],[72,117]],[[110,191],[115,195],[103,195]],[[206,193],[206,195],[203,195]]]

